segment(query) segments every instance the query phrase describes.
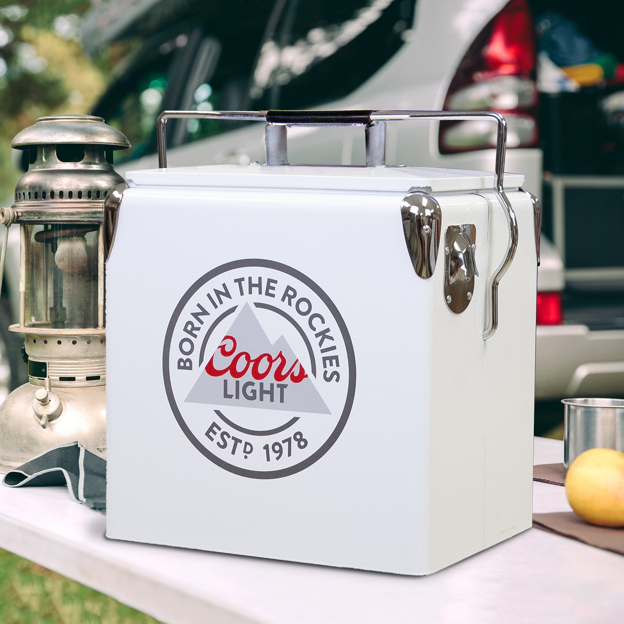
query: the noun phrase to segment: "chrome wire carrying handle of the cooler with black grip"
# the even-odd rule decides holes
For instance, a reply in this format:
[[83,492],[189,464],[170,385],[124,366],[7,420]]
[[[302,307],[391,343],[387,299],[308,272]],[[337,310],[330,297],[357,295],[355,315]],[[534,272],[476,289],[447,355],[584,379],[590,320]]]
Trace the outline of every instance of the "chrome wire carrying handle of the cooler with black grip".
[[346,126],[366,127],[366,164],[384,165],[386,162],[387,121],[408,119],[442,120],[489,120],[497,124],[494,193],[499,201],[509,228],[507,252],[490,278],[485,301],[485,329],[483,339],[491,338],[499,325],[499,283],[514,260],[518,247],[518,223],[514,209],[504,190],[505,147],[507,144],[507,122],[500,113],[479,110],[267,110],[267,111],[220,111],[220,110],[165,110],[158,116],[158,167],[167,167],[167,119],[229,119],[240,121],[264,121],[266,126],[266,163],[285,165],[288,163],[286,150],[286,126]]

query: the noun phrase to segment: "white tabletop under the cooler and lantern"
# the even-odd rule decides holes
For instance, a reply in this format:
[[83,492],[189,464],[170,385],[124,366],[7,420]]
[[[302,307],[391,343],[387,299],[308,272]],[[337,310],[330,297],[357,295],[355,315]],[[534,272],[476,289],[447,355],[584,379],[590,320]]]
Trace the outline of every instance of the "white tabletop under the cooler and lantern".
[[[562,461],[535,439],[535,463]],[[534,483],[534,511],[567,511]],[[624,557],[529,529],[429,577],[402,577],[104,537],[61,487],[0,487],[0,547],[167,624],[622,622]]]

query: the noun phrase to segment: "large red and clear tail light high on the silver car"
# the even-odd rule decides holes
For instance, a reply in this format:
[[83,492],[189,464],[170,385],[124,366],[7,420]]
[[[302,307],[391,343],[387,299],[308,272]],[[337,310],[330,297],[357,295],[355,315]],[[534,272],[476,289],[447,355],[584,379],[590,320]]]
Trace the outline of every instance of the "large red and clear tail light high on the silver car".
[[[537,144],[535,37],[527,0],[511,0],[470,46],[451,81],[444,110],[497,110],[507,119],[507,147]],[[442,154],[496,145],[489,122],[441,122]]]

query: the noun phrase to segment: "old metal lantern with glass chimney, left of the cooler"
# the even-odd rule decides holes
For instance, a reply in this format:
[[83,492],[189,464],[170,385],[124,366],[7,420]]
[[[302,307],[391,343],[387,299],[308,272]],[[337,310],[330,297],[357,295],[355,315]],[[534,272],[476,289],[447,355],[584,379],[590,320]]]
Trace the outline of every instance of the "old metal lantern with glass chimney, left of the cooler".
[[113,150],[130,144],[100,117],[55,115],[11,147],[28,152],[29,168],[0,210],[0,270],[19,223],[19,324],[9,329],[26,334],[29,383],[0,406],[2,472],[75,440],[105,457],[104,204],[124,184]]

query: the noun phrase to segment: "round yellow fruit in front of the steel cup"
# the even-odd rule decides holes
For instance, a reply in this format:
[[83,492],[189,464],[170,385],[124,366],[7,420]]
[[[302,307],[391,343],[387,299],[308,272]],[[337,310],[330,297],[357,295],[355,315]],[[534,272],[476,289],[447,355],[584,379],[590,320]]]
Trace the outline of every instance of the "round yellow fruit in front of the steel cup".
[[583,520],[602,527],[624,526],[624,454],[613,449],[580,454],[568,469],[565,494]]

